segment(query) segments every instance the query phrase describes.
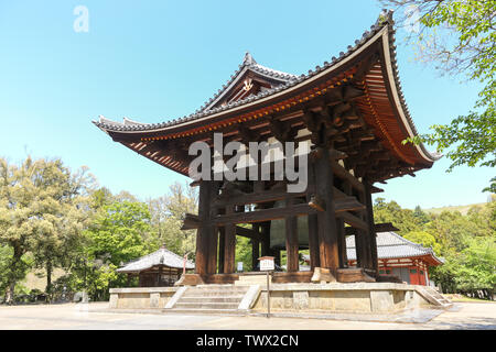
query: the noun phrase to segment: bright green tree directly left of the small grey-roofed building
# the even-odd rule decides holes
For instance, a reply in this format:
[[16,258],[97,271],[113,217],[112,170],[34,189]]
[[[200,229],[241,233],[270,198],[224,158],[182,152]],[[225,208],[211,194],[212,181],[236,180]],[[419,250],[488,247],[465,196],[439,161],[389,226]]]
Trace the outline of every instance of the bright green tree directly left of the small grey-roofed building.
[[[91,197],[95,216],[75,250],[65,282],[72,290],[86,290],[94,300],[106,299],[110,286],[126,284],[116,268],[150,253],[150,212],[143,202],[118,200],[106,189]],[[129,197],[121,198],[129,199]]]

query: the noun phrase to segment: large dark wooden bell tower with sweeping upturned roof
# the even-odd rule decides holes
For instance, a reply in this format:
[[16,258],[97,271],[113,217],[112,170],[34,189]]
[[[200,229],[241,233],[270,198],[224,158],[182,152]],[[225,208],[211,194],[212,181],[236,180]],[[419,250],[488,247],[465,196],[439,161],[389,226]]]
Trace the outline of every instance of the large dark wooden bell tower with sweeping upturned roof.
[[[190,280],[196,283],[239,278],[236,235],[251,240],[254,267],[259,256],[274,256],[278,263],[285,250],[288,272],[276,273],[273,282],[375,280],[376,232],[391,231],[374,223],[371,194],[382,191],[376,184],[414,176],[440,157],[422,144],[402,143],[418,133],[401,91],[391,12],[382,13],[346,53],[305,74],[262,66],[247,53],[226,85],[190,116],[162,123],[100,117],[94,123],[115,142],[184,176],[197,157],[190,146],[203,142],[214,155],[217,133],[224,144],[246,147],[279,142],[284,153],[287,142],[310,145],[303,166],[308,186],[299,193],[288,191],[294,179],[272,177],[277,165],[270,161],[255,164],[255,174],[269,169],[269,178],[229,180],[206,167],[209,177],[194,179],[198,215],[186,215],[184,229],[197,229]],[[260,155],[249,156],[260,161]],[[300,170],[298,161],[284,163]],[[355,237],[359,270],[347,267],[345,235]],[[301,250],[310,251],[310,272],[300,271]]]

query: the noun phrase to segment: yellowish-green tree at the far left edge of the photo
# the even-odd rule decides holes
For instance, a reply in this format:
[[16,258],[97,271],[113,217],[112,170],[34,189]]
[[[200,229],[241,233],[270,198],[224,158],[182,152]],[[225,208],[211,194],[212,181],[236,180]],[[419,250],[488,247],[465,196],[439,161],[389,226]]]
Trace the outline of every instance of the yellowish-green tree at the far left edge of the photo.
[[12,251],[2,273],[6,301],[12,301],[17,283],[30,268],[29,253],[45,266],[50,290],[53,265],[67,260],[69,243],[80,233],[83,198],[91,180],[87,169],[72,175],[60,160],[28,157],[12,165],[0,158],[0,244]]

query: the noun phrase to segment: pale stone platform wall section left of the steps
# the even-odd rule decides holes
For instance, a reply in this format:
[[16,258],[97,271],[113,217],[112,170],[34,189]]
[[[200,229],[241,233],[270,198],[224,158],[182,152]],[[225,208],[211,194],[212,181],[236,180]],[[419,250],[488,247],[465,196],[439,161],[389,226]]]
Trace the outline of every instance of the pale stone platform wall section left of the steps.
[[110,308],[164,308],[179,287],[110,288]]

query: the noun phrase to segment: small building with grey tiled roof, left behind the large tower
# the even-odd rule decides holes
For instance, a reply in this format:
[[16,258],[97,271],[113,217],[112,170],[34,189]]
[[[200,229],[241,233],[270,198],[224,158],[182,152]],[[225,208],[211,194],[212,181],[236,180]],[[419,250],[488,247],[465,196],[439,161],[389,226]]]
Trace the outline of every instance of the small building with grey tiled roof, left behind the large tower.
[[164,287],[173,286],[183,274],[184,267],[191,271],[195,265],[162,246],[153,253],[127,263],[117,272],[128,274],[129,278],[139,276],[139,287]]

